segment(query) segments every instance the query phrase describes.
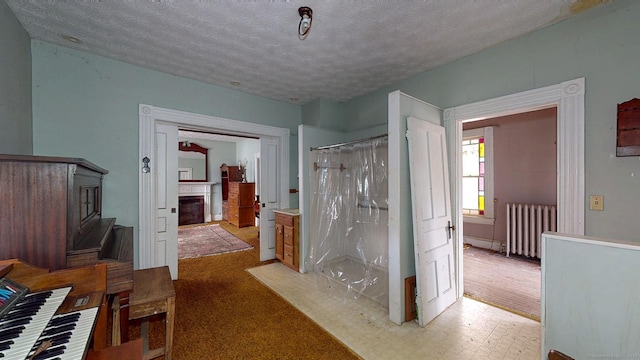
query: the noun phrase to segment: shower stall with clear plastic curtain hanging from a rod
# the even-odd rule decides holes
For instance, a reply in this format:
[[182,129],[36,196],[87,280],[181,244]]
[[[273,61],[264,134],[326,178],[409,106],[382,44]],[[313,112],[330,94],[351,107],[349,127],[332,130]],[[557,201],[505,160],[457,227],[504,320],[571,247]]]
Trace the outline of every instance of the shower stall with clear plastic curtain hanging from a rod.
[[309,264],[319,288],[389,306],[387,136],[311,149]]

